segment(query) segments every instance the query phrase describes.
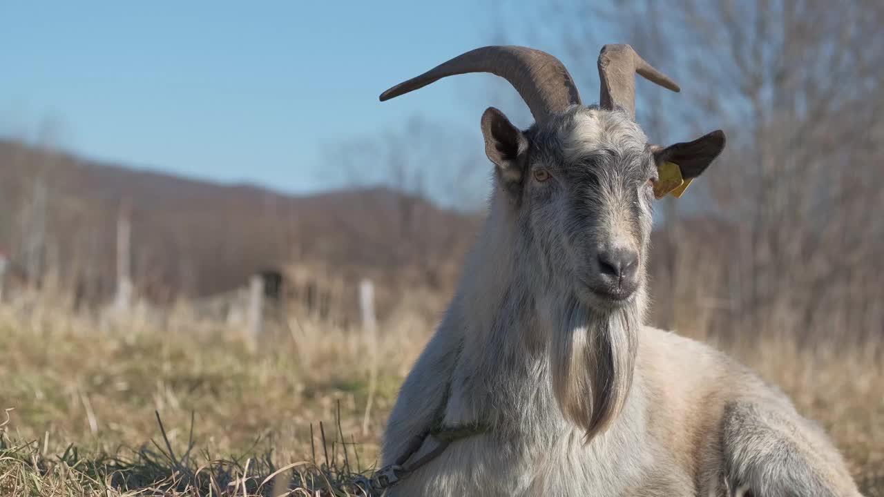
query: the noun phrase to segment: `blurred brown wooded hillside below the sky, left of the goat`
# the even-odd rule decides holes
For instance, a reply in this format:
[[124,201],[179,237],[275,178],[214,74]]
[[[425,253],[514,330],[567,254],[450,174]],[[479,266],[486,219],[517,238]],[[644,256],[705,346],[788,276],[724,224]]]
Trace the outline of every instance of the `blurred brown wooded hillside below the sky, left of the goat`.
[[477,226],[391,189],[290,196],[0,141],[0,248],[19,263],[90,295],[110,294],[124,203],[136,285],[160,301],[225,291],[268,265],[309,261],[353,271],[417,267],[449,284]]

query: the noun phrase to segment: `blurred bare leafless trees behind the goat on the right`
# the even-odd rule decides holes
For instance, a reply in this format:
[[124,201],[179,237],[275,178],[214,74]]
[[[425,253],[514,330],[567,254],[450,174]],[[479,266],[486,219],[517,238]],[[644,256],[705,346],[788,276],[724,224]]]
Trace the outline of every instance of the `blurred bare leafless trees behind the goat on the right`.
[[[539,10],[560,33],[577,80],[594,77],[590,48],[612,28],[674,75],[680,96],[639,88],[659,98],[639,106],[651,109],[638,119],[652,139],[725,125],[728,152],[678,211],[727,223],[733,240],[709,266],[720,277],[697,274],[678,261],[703,246],[668,223],[677,211],[664,204],[671,230],[664,245],[672,250],[654,264],[667,268],[658,274],[673,305],[697,305],[680,288],[726,298],[726,328],[735,335],[880,333],[884,314],[873,302],[884,294],[873,275],[884,270],[884,169],[876,158],[884,152],[884,4],[679,0],[664,9],[647,0],[613,8],[552,1]],[[710,287],[713,280],[720,287]],[[669,325],[677,313],[659,317]]]

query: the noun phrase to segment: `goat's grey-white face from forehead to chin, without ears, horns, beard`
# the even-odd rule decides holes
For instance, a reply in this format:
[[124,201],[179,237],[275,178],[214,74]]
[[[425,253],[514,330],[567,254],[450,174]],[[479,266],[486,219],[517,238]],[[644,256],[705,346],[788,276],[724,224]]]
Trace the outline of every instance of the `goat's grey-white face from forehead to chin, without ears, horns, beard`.
[[522,208],[541,265],[595,308],[631,302],[657,174],[644,133],[623,112],[576,108],[530,141]]

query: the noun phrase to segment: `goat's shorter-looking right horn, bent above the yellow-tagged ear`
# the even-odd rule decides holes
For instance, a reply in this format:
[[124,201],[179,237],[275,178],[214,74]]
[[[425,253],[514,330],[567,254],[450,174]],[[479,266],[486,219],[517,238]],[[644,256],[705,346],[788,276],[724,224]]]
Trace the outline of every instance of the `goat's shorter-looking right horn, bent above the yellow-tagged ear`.
[[644,62],[629,45],[605,45],[598,54],[598,77],[602,82],[598,104],[602,109],[619,105],[635,117],[636,73],[676,93],[682,90],[675,81]]

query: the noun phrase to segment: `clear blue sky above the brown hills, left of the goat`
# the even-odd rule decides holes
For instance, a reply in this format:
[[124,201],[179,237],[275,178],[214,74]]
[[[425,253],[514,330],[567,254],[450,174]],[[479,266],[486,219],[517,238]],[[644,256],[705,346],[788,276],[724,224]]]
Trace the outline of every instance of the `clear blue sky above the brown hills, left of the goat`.
[[481,146],[491,76],[377,96],[494,42],[495,14],[470,0],[4,1],[0,133],[33,139],[53,119],[57,144],[84,157],[289,192],[328,187],[324,147],[415,114],[475,130]]

